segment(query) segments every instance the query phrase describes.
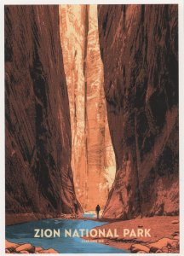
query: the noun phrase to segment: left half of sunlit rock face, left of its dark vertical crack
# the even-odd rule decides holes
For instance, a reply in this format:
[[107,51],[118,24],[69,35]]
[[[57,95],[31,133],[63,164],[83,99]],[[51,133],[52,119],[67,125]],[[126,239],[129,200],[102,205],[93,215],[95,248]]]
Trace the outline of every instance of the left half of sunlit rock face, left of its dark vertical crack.
[[72,129],[72,170],[79,201],[82,201],[84,197],[86,184],[83,73],[85,20],[85,5],[60,5],[60,43],[63,51]]

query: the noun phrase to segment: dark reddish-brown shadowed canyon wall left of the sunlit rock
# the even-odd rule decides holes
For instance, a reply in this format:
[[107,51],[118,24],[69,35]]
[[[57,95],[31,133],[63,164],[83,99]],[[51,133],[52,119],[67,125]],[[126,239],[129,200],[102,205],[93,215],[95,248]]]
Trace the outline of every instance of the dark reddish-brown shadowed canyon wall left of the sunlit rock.
[[5,79],[7,216],[74,213],[58,6],[5,6]]

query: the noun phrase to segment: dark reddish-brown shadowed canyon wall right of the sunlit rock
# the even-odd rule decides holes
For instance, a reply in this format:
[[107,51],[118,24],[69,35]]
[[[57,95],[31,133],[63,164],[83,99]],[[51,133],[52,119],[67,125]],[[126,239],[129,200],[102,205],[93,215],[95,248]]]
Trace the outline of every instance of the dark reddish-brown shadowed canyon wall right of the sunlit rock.
[[99,5],[117,172],[103,216],[178,214],[177,5]]

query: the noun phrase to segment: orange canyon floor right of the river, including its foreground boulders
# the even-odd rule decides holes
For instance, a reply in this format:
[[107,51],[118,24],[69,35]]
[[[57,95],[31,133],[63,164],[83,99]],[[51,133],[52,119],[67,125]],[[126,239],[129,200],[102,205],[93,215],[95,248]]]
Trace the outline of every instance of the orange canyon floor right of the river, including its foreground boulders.
[[[101,218],[101,221],[104,219]],[[123,236],[123,230],[150,229],[151,237]],[[135,218],[105,224],[96,229],[117,229],[118,238],[103,238],[103,244],[119,249],[130,250],[132,253],[179,253],[179,217],[155,216],[151,218]],[[86,238],[89,240],[100,237]]]

